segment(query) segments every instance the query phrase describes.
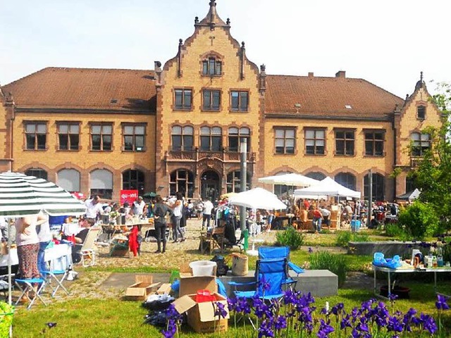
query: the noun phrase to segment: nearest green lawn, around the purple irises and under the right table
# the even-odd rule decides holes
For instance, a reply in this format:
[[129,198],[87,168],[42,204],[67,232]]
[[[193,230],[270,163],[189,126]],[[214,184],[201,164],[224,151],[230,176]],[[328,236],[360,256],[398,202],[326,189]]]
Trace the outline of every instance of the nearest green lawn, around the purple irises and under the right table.
[[[395,309],[407,311],[413,307],[424,313],[435,315],[435,294],[431,283],[422,281],[403,284],[411,287],[411,298],[395,301]],[[441,290],[451,294],[451,282],[441,283]],[[373,293],[362,289],[340,289],[337,296],[316,299],[316,306],[322,308],[326,301],[330,306],[345,303],[350,311],[363,301],[373,298]],[[14,316],[15,337],[42,337],[46,323],[57,323],[44,337],[161,337],[159,330],[152,325],[143,324],[147,311],[140,302],[121,299],[75,299],[60,303],[51,303],[47,307],[36,306],[32,311],[20,309]],[[451,312],[445,313],[445,327],[451,327]],[[231,324],[231,323],[230,323]],[[183,326],[183,337],[199,337]],[[210,335],[212,337],[213,335]],[[206,336],[208,337],[208,336]],[[233,337],[230,327],[228,334],[221,337]],[[239,336],[238,336],[239,337]]]

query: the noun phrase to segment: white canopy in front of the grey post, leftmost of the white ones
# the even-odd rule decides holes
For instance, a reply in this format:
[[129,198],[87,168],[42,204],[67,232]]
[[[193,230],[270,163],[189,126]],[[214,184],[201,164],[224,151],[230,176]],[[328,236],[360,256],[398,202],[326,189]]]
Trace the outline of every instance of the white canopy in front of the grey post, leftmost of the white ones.
[[228,201],[234,206],[245,206],[255,209],[280,210],[287,208],[275,194],[263,188],[254,188],[247,190],[247,192],[240,192],[230,196]]

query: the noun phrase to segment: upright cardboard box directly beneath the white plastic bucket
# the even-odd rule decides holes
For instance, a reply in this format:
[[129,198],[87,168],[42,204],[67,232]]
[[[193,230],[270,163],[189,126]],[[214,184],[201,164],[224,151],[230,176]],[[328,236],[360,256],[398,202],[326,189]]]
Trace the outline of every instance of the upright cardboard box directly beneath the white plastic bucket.
[[192,270],[187,263],[180,265],[180,289],[178,296],[187,294],[197,294],[197,290],[209,290],[209,292],[218,292],[216,276],[193,276]]

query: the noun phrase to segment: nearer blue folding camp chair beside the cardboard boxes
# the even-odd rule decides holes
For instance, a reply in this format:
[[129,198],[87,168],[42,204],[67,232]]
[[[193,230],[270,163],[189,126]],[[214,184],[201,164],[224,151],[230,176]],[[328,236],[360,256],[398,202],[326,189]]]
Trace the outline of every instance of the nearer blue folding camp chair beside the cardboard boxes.
[[[228,284],[235,287],[235,296],[251,299],[258,297],[260,299],[281,299],[283,297],[283,282],[286,280],[285,258],[271,258],[257,260],[255,267],[255,281],[247,283],[229,282]],[[239,287],[247,289],[254,286],[252,291],[239,291]]]

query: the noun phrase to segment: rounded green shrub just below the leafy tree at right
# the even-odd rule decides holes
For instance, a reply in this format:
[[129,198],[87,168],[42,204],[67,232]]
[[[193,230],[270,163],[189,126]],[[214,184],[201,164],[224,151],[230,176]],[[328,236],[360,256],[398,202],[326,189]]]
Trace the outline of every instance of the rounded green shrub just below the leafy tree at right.
[[439,218],[434,208],[420,201],[415,201],[401,211],[398,223],[415,239],[425,239],[440,231]]

